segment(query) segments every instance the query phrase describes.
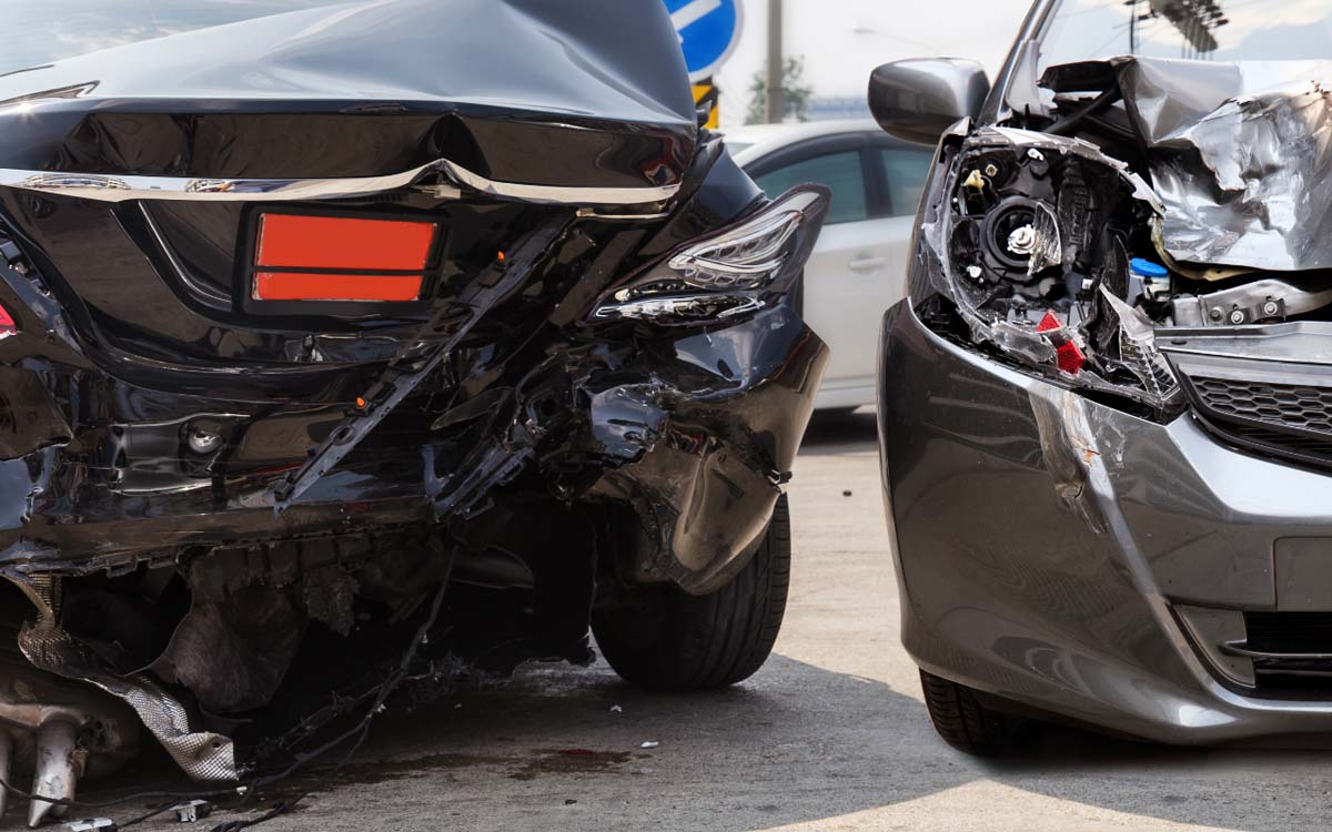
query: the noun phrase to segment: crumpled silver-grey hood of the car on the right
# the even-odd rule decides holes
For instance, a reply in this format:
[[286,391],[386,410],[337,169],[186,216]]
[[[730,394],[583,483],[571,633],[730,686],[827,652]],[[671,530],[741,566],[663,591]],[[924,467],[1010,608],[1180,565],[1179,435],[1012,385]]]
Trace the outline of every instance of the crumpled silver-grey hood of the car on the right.
[[1166,206],[1177,261],[1261,270],[1332,266],[1332,61],[1116,57],[1054,67],[1118,79]]

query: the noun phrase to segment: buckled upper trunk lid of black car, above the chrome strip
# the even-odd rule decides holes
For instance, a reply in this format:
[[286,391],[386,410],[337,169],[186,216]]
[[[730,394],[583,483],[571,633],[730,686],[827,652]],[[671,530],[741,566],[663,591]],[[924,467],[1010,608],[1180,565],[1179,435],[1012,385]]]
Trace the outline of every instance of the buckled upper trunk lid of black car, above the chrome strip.
[[12,169],[374,176],[445,156],[500,180],[641,186],[679,181],[695,141],[659,0],[349,3],[0,77]]

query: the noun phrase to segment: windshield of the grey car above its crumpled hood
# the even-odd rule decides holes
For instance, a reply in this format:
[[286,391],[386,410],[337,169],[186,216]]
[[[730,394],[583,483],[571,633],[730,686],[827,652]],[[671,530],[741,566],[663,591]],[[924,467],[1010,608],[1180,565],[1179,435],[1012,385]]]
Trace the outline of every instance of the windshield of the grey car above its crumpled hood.
[[1328,0],[1060,0],[1040,68],[1118,55],[1209,61],[1332,57]]

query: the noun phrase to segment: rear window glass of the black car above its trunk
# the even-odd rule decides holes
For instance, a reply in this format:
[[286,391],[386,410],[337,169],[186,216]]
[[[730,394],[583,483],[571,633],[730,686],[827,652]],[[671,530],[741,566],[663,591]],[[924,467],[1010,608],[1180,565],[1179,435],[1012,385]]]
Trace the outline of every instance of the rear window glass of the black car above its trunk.
[[[0,0],[0,75],[189,29],[345,0]],[[21,33],[21,36],[19,35]]]

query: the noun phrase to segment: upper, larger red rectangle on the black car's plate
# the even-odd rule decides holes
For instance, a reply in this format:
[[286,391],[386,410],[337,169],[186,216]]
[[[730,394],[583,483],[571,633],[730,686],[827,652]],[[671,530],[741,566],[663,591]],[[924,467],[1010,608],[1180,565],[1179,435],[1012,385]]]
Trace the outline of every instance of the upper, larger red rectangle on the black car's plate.
[[269,269],[424,272],[436,224],[264,214],[254,265]]

